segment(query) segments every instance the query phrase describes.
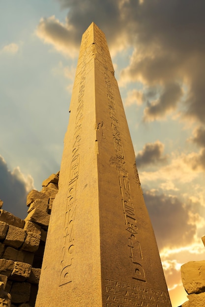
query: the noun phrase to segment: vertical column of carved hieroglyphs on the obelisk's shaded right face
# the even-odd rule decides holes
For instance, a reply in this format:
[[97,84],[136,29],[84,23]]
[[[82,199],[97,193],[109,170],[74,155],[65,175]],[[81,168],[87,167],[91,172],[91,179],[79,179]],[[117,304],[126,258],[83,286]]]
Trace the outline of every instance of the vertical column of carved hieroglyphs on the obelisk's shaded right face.
[[[99,38],[99,41],[101,41],[101,46],[106,46],[105,39],[102,36],[102,34],[98,31],[97,36]],[[123,168],[120,168],[120,171],[118,171],[119,176],[119,187],[122,197],[122,210],[124,214],[124,223],[127,230],[127,248],[130,250],[130,259],[133,263],[133,279],[140,280],[140,281],[146,281],[145,277],[145,271],[142,266],[142,250],[141,245],[138,240],[137,236],[137,218],[134,212],[134,206],[132,202],[132,197],[130,194],[130,185],[129,185],[129,179],[128,179],[128,172],[126,171],[126,163],[125,163],[125,157],[124,157],[124,151],[123,151],[123,145],[120,138],[120,127],[117,119],[117,113],[116,113],[116,103],[113,95],[113,89],[112,89],[112,83],[110,80],[110,74],[112,74],[109,69],[112,66],[110,57],[107,55],[109,54],[106,50],[104,51],[104,48],[101,47],[99,52],[101,53],[101,60],[102,60],[102,66],[104,68],[104,77],[105,77],[105,83],[107,88],[107,102],[108,102],[108,108],[110,113],[110,120],[111,120],[111,127],[113,131],[113,143],[114,143],[114,149],[116,152],[116,160],[117,164],[123,165]],[[111,75],[112,76],[112,75]],[[112,76],[113,77],[113,76]],[[124,169],[124,171],[122,171]]]

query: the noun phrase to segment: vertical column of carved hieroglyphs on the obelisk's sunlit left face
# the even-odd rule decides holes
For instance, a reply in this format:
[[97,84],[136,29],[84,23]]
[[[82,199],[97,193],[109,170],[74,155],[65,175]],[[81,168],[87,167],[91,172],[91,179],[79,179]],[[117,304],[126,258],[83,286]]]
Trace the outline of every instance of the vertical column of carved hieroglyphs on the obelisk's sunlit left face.
[[[85,37],[85,45],[87,43]],[[61,255],[61,273],[60,273],[60,282],[59,285],[66,284],[72,281],[70,276],[69,268],[72,265],[72,259],[75,255],[75,236],[73,231],[73,224],[75,222],[76,215],[76,187],[77,180],[79,177],[79,163],[80,163],[80,144],[81,144],[81,132],[82,132],[82,120],[83,120],[83,107],[84,107],[84,93],[85,93],[85,82],[86,82],[86,58],[87,52],[84,48],[84,56],[81,65],[81,78],[80,78],[80,87],[79,87],[79,96],[78,96],[78,106],[76,113],[74,137],[72,142],[72,160],[70,165],[70,180],[68,183],[68,197],[66,204],[66,213],[64,220],[64,245],[62,248]]]

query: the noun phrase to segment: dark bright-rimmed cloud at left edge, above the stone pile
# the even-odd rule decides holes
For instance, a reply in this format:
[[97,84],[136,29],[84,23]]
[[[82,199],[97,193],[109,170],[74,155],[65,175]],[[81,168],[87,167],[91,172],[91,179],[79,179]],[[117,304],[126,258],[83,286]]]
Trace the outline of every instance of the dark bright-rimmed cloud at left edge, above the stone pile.
[[0,199],[3,201],[2,209],[24,219],[27,216],[27,194],[32,188],[32,177],[29,175],[26,178],[19,167],[11,172],[3,157],[0,156]]

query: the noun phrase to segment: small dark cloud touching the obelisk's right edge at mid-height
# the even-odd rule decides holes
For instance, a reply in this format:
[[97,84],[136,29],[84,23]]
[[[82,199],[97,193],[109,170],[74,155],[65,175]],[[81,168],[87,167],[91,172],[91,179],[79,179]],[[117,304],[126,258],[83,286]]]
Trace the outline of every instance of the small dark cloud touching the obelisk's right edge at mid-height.
[[156,141],[155,143],[147,143],[143,150],[136,156],[136,164],[138,167],[164,163],[167,161],[167,156],[163,156],[164,145]]

